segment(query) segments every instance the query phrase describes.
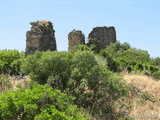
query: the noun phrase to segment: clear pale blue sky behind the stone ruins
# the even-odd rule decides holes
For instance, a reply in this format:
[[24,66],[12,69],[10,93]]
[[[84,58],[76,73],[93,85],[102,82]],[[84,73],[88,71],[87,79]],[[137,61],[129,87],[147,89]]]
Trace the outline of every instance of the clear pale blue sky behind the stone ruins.
[[160,57],[160,0],[0,0],[0,49],[25,51],[31,21],[53,23],[58,51],[73,29],[114,26],[117,40]]

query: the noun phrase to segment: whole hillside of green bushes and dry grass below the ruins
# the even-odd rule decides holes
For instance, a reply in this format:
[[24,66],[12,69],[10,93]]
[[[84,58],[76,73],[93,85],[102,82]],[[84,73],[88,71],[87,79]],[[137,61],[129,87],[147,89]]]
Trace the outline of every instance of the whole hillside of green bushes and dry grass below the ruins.
[[128,43],[28,57],[2,50],[0,74],[2,120],[137,120],[126,114],[142,113],[158,119],[160,58]]

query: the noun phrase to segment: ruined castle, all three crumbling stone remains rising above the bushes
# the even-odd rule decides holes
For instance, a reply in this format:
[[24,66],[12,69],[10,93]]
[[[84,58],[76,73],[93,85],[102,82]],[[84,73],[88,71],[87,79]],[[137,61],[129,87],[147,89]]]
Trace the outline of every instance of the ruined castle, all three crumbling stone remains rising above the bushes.
[[[31,30],[26,33],[25,55],[34,54],[38,51],[56,51],[55,30],[48,20],[31,22]],[[90,32],[89,42],[85,43],[85,36],[80,30],[73,30],[68,34],[68,50],[74,49],[79,44],[96,44],[97,50],[104,49],[106,45],[116,42],[114,27],[95,27]]]

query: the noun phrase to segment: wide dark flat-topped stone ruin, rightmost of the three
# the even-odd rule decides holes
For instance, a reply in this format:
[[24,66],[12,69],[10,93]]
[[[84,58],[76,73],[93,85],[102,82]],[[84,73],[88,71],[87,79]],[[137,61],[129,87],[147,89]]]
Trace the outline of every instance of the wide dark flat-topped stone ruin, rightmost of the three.
[[97,51],[106,48],[106,45],[114,42],[116,42],[114,27],[95,27],[89,34],[88,45],[95,44]]

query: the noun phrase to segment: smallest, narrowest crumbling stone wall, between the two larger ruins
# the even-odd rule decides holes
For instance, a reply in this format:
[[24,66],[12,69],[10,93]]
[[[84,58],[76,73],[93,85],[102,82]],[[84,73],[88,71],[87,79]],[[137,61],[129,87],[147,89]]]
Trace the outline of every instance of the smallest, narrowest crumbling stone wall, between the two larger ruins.
[[73,30],[68,34],[68,50],[72,50],[76,45],[85,44],[85,36],[82,31]]

